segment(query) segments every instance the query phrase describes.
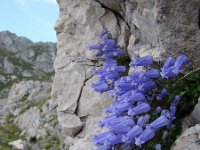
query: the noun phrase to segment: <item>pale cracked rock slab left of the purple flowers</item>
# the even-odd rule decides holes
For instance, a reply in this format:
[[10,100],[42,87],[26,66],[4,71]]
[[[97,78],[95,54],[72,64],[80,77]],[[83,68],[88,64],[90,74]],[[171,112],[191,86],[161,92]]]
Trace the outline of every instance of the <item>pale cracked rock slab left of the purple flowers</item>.
[[[61,15],[55,25],[58,52],[54,62],[56,75],[52,87],[52,98],[58,102],[58,118],[63,118],[58,119],[61,130],[67,130],[61,132],[60,135],[65,144],[65,149],[69,147],[76,149],[79,147],[76,146],[76,143],[82,141],[82,138],[87,137],[87,140],[83,140],[84,147],[87,147],[88,143],[91,145],[88,141],[91,140],[94,133],[92,131],[98,128],[96,126],[98,121],[94,123],[95,117],[102,118],[104,115],[101,109],[111,102],[108,95],[92,92],[90,86],[94,78],[90,78],[98,63],[93,61],[96,60],[95,53],[88,51],[87,48],[88,45],[98,41],[98,34],[104,27],[111,30],[114,38],[120,36],[119,18],[93,0],[86,0],[84,3],[81,0],[60,0],[58,4]],[[119,4],[117,5],[119,6]],[[110,22],[110,20],[113,21]],[[125,32],[125,25],[120,24],[122,24],[121,28]],[[125,38],[121,37],[120,41],[124,44]],[[60,113],[60,111],[65,113]],[[80,124],[81,128],[83,127],[81,133],[70,138],[71,140],[69,140],[68,135],[74,136],[78,131],[74,133],[74,127],[71,131],[69,127],[66,127],[70,123],[68,115],[80,121],[78,115],[84,122],[84,124]],[[86,116],[89,116],[90,122],[93,123],[86,125],[83,119]],[[92,127],[90,132],[89,126]],[[78,129],[80,130],[80,126],[78,126]]]

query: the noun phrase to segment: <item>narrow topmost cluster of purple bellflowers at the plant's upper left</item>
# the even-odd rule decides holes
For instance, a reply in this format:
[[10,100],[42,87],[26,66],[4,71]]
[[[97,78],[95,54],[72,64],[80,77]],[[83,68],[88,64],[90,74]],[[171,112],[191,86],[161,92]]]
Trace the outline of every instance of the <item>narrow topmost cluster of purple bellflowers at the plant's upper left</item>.
[[112,90],[114,81],[117,80],[121,73],[126,71],[125,66],[118,66],[114,59],[124,54],[124,50],[120,49],[116,41],[112,39],[110,33],[104,29],[99,34],[100,41],[98,44],[91,45],[90,50],[97,50],[97,56],[105,59],[103,67],[95,70],[94,74],[98,75],[99,80],[93,83],[92,88],[96,92],[104,93]]

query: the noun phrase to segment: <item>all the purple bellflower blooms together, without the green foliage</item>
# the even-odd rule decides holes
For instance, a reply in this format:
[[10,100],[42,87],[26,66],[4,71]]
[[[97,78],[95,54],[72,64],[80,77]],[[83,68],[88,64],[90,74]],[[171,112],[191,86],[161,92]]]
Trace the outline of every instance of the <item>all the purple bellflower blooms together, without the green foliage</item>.
[[[107,34],[108,32],[103,35]],[[109,42],[104,42],[104,40],[109,40]],[[107,53],[104,48],[110,46],[110,43],[113,43],[113,47],[118,47],[113,40],[112,42],[110,39],[104,40],[98,45],[99,47],[94,46],[98,47],[101,56]],[[116,101],[105,109],[108,116],[99,123],[100,127],[105,127],[108,130],[93,138],[97,149],[110,150],[120,145],[124,149],[131,150],[133,145],[141,147],[142,144],[153,139],[161,128],[171,128],[180,96],[175,96],[169,109],[157,107],[154,114],[159,115],[159,117],[150,122],[151,116],[148,114],[152,111],[150,104],[155,99],[162,101],[168,92],[166,88],[163,88],[160,94],[152,94],[157,87],[154,80],[178,75],[186,62],[185,55],[180,55],[177,59],[169,57],[161,69],[138,71],[119,78],[119,73],[124,72],[125,67],[117,66],[113,58],[106,58],[103,68],[95,71],[99,75],[99,81],[92,87],[100,93],[112,90],[110,94],[116,98]],[[132,60],[130,66],[150,66],[152,64],[152,56],[145,56]],[[108,81],[112,84],[108,84]],[[166,139],[167,134],[167,131],[163,132],[163,139]],[[161,145],[156,144],[155,148],[161,150]]]

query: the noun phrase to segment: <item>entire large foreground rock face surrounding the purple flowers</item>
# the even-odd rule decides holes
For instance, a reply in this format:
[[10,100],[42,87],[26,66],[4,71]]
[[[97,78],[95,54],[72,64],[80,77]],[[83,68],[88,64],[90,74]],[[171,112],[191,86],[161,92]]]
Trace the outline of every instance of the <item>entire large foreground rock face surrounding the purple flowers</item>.
[[[198,0],[57,2],[60,16],[55,25],[58,52],[52,97],[58,103],[64,149],[78,150],[80,145],[93,149],[91,136],[98,131],[96,124],[104,116],[103,108],[111,103],[108,95],[90,89],[95,80],[92,70],[100,62],[87,47],[98,41],[103,28],[127,49],[130,58],[151,54],[162,60],[166,54],[185,53],[194,66],[200,64]],[[70,122],[69,116],[74,121]]]

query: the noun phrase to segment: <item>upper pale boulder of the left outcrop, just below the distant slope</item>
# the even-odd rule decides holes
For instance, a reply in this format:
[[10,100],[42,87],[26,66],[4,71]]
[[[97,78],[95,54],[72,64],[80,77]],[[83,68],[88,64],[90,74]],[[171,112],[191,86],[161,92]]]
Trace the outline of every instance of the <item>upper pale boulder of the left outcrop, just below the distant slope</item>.
[[51,84],[48,82],[30,80],[15,84],[8,95],[7,109],[14,116],[18,116],[34,103],[49,99],[50,90]]

